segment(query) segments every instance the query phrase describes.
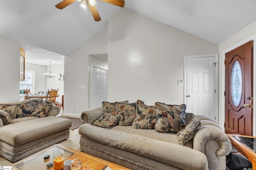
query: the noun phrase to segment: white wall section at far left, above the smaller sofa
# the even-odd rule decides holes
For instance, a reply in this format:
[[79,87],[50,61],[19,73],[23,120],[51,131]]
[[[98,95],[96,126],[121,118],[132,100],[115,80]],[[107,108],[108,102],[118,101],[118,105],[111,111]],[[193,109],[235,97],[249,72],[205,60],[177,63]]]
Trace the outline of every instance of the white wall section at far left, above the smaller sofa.
[[0,35],[0,102],[20,101],[20,42]]

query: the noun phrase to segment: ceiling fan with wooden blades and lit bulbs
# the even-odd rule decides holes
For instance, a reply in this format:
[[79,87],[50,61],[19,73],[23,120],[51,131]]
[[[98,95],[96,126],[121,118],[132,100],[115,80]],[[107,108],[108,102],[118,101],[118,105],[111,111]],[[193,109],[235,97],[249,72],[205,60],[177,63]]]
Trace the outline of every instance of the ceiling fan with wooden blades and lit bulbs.
[[[60,2],[59,4],[57,4],[56,8],[62,10],[63,8],[72,4],[75,1],[76,0],[64,0],[64,1]],[[88,6],[95,21],[101,20],[100,15],[95,7],[96,0],[77,0],[77,1],[81,2],[81,4],[80,4],[81,8],[87,9],[86,6]],[[108,3],[116,5],[116,6],[124,7],[124,0],[101,0],[101,1],[108,2]]]

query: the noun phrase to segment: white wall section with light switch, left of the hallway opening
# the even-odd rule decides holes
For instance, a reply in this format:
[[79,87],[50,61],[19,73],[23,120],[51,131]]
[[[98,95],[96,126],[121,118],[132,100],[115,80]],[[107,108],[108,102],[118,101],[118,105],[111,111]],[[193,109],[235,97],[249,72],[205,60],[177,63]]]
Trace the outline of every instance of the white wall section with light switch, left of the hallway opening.
[[[107,28],[104,28],[64,58],[64,114],[80,115],[82,111],[89,108],[90,64],[88,56],[107,53],[107,36]],[[86,88],[81,89],[82,85]]]

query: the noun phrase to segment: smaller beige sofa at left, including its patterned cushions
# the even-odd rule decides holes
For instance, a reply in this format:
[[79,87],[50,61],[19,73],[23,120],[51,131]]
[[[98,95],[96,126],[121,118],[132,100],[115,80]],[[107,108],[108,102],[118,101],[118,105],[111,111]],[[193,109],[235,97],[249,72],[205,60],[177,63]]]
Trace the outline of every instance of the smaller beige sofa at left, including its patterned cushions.
[[71,121],[42,99],[0,103],[0,155],[16,162],[69,137]]

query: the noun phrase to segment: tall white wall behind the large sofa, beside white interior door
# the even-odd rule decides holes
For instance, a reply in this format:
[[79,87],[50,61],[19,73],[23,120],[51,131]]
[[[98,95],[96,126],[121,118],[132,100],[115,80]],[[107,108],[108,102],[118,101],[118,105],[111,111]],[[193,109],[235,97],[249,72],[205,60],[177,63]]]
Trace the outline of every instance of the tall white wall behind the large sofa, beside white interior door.
[[108,101],[182,104],[184,56],[217,53],[214,43],[124,8],[108,21]]

